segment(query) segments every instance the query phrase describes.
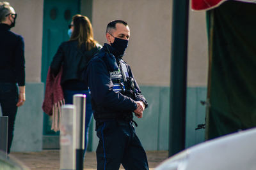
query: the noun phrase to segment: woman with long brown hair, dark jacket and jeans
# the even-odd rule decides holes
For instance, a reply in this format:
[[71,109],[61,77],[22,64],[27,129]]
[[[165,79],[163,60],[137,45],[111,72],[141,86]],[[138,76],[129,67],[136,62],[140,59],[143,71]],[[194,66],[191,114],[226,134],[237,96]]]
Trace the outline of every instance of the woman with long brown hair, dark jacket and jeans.
[[[93,39],[90,20],[83,15],[74,15],[70,24],[70,39],[61,43],[51,62],[51,72],[56,76],[62,67],[61,87],[65,104],[73,104],[74,94],[86,94],[85,146],[88,144],[88,129],[92,120],[92,105],[88,85],[82,80],[83,71],[101,46]],[[85,153],[85,152],[84,152]]]

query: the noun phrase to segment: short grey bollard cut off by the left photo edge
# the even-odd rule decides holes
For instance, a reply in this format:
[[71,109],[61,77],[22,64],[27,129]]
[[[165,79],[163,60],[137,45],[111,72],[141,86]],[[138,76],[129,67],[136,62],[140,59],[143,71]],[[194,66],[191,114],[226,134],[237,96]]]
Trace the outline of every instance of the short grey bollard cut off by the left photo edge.
[[0,150],[7,156],[8,117],[0,117]]

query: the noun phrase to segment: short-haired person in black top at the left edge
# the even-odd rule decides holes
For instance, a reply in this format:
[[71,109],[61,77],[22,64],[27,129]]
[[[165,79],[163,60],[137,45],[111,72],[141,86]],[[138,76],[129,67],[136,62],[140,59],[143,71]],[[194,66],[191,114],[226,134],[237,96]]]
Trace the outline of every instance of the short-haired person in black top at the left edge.
[[10,31],[16,18],[12,6],[0,2],[0,104],[3,116],[8,117],[8,153],[12,146],[17,107],[26,101],[24,39]]

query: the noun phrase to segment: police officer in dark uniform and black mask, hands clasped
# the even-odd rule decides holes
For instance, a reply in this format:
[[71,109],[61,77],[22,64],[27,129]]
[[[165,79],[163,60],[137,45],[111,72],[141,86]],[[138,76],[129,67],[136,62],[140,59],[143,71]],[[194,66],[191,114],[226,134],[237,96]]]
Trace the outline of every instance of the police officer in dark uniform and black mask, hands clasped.
[[132,112],[142,118],[147,101],[122,60],[130,30],[126,22],[109,22],[102,50],[89,62],[85,78],[92,92],[96,120],[97,169],[148,169],[145,150],[136,136]]

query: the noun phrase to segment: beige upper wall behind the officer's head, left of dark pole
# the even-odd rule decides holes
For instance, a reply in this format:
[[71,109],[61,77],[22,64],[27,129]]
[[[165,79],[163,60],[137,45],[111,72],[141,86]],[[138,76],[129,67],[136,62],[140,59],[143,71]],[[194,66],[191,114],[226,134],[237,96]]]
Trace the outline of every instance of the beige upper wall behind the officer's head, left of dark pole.
[[93,29],[99,43],[106,42],[109,21],[127,21],[131,38],[124,60],[131,65],[140,85],[170,83],[170,8],[171,1],[93,1]]

